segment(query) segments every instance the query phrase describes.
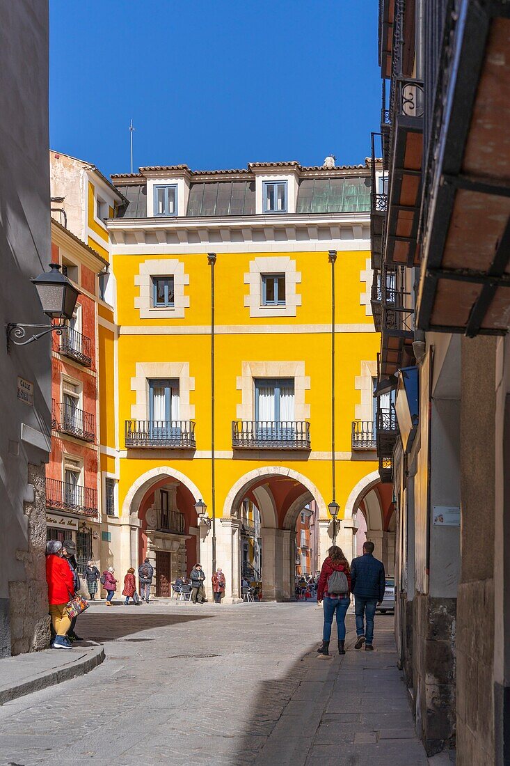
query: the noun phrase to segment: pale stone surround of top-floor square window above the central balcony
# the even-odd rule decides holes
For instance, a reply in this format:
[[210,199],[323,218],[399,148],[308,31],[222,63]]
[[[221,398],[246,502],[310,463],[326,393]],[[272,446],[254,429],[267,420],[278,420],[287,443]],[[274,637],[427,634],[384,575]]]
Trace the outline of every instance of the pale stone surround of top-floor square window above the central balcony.
[[[262,305],[262,274],[285,274],[285,306]],[[244,306],[250,309],[250,316],[296,316],[301,306],[301,296],[296,293],[296,284],[301,282],[301,272],[296,271],[296,261],[288,256],[266,256],[250,260],[250,271],[244,274],[244,284],[250,286],[250,293],[244,296]]]

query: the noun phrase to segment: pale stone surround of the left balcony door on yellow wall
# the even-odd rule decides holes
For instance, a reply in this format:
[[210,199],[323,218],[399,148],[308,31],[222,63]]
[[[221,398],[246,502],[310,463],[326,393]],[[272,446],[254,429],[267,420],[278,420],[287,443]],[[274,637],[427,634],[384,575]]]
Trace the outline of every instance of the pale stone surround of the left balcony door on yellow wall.
[[189,403],[190,391],[195,391],[195,378],[189,376],[189,362],[136,362],[136,376],[131,378],[131,391],[136,391],[136,404],[131,405],[135,421],[149,420],[149,380],[178,378],[179,420],[195,419],[195,404]]

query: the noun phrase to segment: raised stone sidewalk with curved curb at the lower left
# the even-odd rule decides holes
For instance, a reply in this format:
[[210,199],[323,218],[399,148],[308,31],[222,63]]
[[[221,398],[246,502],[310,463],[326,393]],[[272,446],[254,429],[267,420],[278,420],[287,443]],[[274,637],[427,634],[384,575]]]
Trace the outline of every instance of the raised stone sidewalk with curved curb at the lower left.
[[75,644],[72,651],[47,649],[0,660],[0,705],[47,686],[83,676],[104,660],[103,647]]

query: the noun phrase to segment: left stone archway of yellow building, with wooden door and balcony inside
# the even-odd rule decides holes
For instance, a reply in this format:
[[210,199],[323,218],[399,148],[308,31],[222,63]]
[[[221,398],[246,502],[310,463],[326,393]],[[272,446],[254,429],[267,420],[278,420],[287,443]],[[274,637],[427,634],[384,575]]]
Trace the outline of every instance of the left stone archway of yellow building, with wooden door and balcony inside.
[[184,474],[166,466],[143,474],[129,489],[123,511],[132,519],[130,565],[138,568],[149,558],[156,596],[172,596],[171,583],[189,575],[200,558],[199,497]]

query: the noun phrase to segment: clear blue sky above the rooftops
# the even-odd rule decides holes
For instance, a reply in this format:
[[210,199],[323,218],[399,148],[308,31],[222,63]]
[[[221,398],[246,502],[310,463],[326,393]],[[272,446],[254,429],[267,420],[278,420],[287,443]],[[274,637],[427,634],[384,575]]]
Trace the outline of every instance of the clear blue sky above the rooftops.
[[106,175],[363,162],[377,0],[50,0],[51,148]]

